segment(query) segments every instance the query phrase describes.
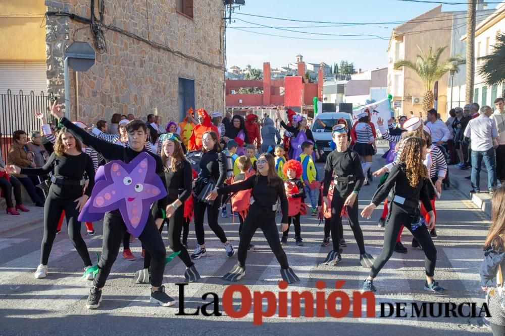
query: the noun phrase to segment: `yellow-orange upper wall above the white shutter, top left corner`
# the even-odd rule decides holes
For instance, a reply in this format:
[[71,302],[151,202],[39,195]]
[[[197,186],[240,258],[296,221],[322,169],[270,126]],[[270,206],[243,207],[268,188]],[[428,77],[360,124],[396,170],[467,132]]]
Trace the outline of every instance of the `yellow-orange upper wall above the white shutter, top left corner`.
[[0,60],[44,60],[42,0],[0,1]]

